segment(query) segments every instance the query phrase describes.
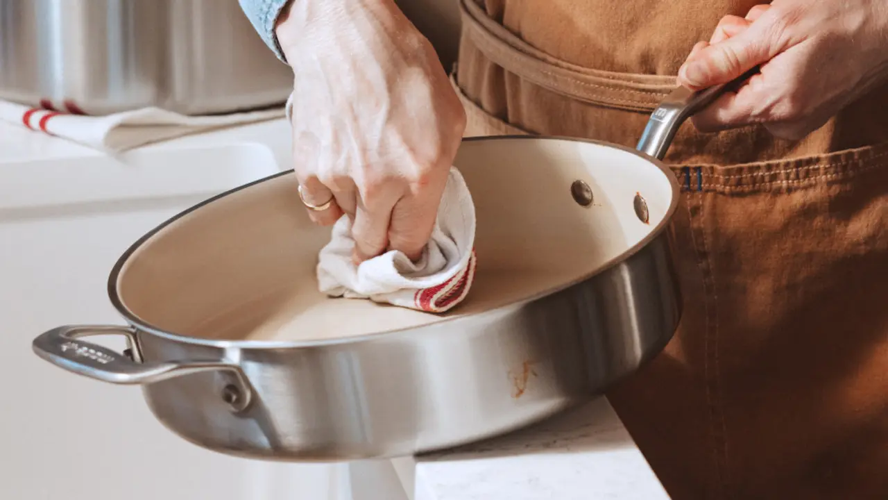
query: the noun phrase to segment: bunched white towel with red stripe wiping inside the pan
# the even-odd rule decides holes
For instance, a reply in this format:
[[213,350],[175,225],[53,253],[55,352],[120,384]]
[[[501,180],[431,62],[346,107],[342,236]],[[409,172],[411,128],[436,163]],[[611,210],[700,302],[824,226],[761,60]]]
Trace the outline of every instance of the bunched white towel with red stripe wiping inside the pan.
[[333,226],[318,259],[321,292],[427,312],[444,312],[463,302],[475,274],[475,206],[463,176],[450,169],[432,238],[418,262],[389,251],[355,266],[352,220]]

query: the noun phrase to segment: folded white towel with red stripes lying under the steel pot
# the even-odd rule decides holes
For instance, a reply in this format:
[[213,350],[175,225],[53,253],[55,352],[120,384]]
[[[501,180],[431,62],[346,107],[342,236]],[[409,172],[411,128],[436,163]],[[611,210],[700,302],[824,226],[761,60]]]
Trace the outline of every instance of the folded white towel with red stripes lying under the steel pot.
[[86,116],[66,102],[67,112],[56,111],[45,102],[42,109],[0,101],[0,120],[26,126],[84,146],[119,152],[153,142],[168,141],[192,133],[209,132],[233,125],[246,125],[284,116],[282,107],[234,113],[189,117],[158,108],[135,109],[100,117]]

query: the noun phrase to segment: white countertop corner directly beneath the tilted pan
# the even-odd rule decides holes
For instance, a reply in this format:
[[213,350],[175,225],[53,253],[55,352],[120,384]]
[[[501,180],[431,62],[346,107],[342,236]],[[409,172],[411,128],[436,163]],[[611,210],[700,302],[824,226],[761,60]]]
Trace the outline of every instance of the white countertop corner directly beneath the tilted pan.
[[494,440],[394,464],[415,466],[414,500],[669,498],[605,398]]

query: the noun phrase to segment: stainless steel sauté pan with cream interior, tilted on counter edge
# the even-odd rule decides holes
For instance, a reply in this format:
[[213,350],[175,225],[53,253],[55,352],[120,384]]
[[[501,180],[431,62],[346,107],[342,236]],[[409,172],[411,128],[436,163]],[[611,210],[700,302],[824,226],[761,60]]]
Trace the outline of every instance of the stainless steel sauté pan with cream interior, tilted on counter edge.
[[[477,204],[478,273],[443,316],[321,296],[314,263],[329,230],[281,173],[131,246],[108,281],[128,326],[55,328],[34,351],[140,384],[171,431],[236,456],[403,456],[533,423],[598,395],[673,335],[678,183],[659,158],[719,90],[670,95],[640,151],[465,141],[456,165]],[[84,340],[108,334],[129,355]]]

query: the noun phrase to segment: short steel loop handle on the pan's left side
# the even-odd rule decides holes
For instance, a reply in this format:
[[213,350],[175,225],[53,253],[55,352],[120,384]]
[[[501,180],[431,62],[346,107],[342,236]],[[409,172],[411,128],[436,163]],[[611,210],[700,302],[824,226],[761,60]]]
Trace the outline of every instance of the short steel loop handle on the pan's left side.
[[52,328],[34,339],[32,347],[37,356],[57,367],[96,380],[120,384],[147,384],[161,382],[181,375],[212,370],[223,370],[234,375],[238,393],[232,397],[228,389],[226,400],[233,407],[243,409],[250,400],[249,385],[241,367],[226,361],[166,361],[135,362],[126,355],[111,351],[95,343],[81,340],[93,335],[123,335],[131,346],[136,343],[130,327],[77,325]]

